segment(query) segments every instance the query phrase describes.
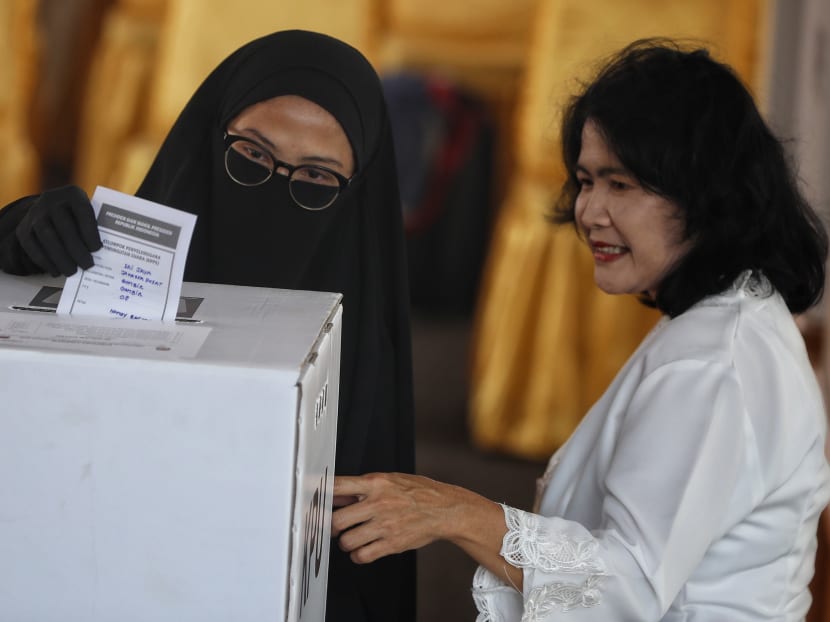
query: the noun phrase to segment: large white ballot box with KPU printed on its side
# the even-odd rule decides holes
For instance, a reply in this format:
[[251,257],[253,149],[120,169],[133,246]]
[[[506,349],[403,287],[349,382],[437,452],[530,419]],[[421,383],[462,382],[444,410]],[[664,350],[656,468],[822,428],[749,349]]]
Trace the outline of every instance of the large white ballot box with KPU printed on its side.
[[0,620],[323,620],[339,294],[185,283],[176,322],[0,274]]

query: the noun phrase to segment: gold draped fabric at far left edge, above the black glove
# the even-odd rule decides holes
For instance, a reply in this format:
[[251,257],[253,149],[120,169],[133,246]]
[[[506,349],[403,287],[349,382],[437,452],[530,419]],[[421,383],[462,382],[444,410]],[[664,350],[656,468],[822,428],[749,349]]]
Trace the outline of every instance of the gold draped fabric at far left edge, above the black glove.
[[35,0],[0,2],[0,206],[37,192],[39,160],[28,132],[38,63]]

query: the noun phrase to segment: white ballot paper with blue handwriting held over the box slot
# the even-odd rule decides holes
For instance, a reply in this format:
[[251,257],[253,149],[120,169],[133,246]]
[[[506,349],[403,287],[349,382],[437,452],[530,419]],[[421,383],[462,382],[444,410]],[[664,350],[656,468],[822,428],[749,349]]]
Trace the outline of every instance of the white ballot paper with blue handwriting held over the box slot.
[[103,246],[66,279],[58,314],[175,320],[196,216],[101,186],[92,207]]

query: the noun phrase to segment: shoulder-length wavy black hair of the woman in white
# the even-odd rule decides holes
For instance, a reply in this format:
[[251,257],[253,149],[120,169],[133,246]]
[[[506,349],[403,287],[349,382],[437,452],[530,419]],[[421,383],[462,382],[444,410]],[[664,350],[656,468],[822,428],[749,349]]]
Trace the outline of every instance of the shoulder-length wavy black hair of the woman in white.
[[623,166],[685,221],[690,250],[644,302],[674,317],[746,270],[766,276],[793,313],[821,299],[827,233],[781,141],[728,65],[663,38],[615,54],[565,109],[567,179],[554,222],[576,224],[576,165],[589,119]]

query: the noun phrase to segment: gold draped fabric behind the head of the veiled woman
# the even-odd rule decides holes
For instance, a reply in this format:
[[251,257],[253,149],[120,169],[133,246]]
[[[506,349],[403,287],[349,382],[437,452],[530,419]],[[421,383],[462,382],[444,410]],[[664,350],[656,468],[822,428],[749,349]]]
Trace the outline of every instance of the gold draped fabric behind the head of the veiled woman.
[[89,93],[93,103],[84,119],[78,182],[87,191],[104,184],[135,192],[196,87],[225,56],[255,37],[285,28],[317,30],[371,58],[373,0],[122,0],[122,5],[104,33]]

